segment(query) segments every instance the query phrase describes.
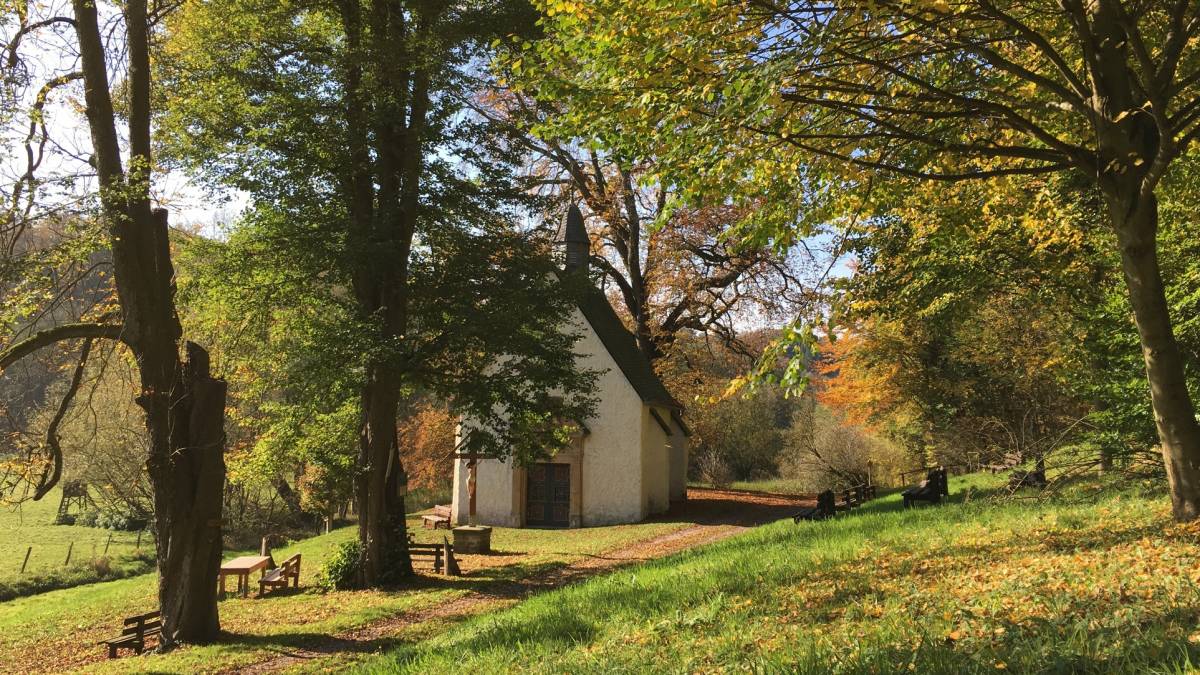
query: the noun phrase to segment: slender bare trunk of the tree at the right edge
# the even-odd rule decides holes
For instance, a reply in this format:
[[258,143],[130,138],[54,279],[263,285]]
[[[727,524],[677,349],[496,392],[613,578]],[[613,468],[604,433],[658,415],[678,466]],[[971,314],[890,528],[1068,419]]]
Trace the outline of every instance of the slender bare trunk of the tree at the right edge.
[[1176,520],[1193,520],[1200,516],[1200,425],[1188,394],[1183,356],[1171,329],[1158,267],[1158,202],[1153,196],[1148,199],[1110,196],[1109,208],[1141,339],[1171,507]]

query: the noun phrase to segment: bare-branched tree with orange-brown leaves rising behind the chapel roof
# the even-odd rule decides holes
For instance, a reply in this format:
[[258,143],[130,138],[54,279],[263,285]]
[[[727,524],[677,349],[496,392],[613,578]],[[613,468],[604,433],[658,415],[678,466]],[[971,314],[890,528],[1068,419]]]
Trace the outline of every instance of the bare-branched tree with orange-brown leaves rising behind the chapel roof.
[[[536,90],[541,71],[504,66],[506,82]],[[724,199],[680,204],[668,185],[654,181],[654,161],[629,162],[546,130],[564,114],[562,102],[511,90],[478,106],[514,125],[539,185],[563,201],[582,202],[592,238],[592,265],[625,310],[637,346],[652,363],[676,339],[692,331],[720,340],[743,356],[750,348],[737,325],[749,316],[781,318],[811,301],[804,273],[812,259],[788,243],[746,243],[726,235],[745,207]],[[541,135],[541,136],[540,136]]]

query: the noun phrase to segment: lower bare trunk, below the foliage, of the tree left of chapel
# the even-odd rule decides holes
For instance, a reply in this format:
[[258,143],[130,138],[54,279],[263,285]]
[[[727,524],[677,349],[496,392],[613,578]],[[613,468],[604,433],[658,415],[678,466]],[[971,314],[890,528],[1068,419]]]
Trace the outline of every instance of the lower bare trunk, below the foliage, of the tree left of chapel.
[[362,388],[362,431],[359,438],[355,500],[362,544],[361,584],[378,586],[413,574],[406,538],[407,485],[396,440],[397,377],[372,366]]

